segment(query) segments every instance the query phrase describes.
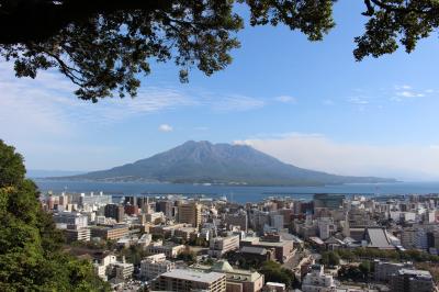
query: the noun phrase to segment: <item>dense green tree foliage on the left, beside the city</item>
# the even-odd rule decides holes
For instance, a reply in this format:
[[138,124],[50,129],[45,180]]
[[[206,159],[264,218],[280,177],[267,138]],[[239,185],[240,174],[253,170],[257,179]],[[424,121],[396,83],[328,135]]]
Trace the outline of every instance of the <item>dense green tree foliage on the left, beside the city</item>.
[[20,154],[0,141],[0,291],[105,291],[89,261],[61,251],[64,238],[24,178]]

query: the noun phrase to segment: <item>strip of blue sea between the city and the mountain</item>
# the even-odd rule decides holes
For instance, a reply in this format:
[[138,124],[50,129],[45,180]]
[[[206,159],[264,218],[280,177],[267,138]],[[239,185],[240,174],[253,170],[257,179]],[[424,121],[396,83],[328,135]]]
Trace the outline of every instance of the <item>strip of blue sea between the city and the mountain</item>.
[[187,198],[226,198],[236,203],[259,202],[270,196],[289,196],[295,200],[312,200],[315,193],[364,195],[393,198],[409,194],[439,194],[439,182],[395,182],[395,183],[349,183],[324,187],[249,187],[249,186],[210,186],[210,184],[172,184],[144,182],[92,182],[92,181],[54,181],[34,179],[43,193],[63,191],[77,193],[111,194],[113,198],[124,195],[164,196],[168,194]]

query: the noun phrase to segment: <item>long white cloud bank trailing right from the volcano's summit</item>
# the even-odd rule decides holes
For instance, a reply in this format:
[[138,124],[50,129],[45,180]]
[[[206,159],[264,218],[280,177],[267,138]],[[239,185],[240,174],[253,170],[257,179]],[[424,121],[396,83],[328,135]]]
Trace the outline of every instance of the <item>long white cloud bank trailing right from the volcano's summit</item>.
[[290,134],[246,144],[299,167],[351,176],[428,180],[439,178],[439,147],[375,146],[335,142],[323,135]]

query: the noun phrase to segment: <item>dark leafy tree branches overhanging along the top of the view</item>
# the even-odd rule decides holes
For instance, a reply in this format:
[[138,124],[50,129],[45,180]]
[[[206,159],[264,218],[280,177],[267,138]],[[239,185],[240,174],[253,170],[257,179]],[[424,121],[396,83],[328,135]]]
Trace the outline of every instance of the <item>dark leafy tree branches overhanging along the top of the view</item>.
[[[357,60],[407,53],[439,25],[435,0],[363,0],[369,21],[354,38]],[[138,76],[151,61],[173,61],[188,81],[196,67],[210,76],[232,63],[249,23],[284,24],[320,41],[334,26],[336,0],[0,0],[0,55],[18,77],[58,68],[77,86],[78,98],[97,102],[114,93],[136,96]]]

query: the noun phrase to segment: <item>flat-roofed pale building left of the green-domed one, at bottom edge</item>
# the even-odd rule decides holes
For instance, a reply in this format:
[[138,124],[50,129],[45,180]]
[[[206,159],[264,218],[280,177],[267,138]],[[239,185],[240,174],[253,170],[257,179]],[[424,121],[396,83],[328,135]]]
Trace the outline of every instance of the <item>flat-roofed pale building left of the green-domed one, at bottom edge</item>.
[[201,272],[189,269],[176,269],[160,274],[153,282],[153,290],[179,292],[225,292],[226,276],[219,272]]

